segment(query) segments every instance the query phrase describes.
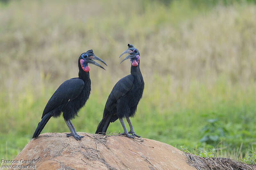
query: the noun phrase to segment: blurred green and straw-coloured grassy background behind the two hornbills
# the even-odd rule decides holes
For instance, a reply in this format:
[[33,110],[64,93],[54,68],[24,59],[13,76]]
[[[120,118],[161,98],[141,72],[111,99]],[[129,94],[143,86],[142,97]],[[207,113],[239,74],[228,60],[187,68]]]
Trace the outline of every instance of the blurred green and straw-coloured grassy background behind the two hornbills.
[[[140,50],[145,90],[132,118],[142,137],[232,159],[255,155],[256,6],[253,1],[7,1],[0,3],[0,158],[29,142],[47,101],[77,77],[93,49],[92,92],[77,131],[94,133],[108,94]],[[44,132],[68,132],[63,118]],[[122,131],[120,122],[109,132]]]

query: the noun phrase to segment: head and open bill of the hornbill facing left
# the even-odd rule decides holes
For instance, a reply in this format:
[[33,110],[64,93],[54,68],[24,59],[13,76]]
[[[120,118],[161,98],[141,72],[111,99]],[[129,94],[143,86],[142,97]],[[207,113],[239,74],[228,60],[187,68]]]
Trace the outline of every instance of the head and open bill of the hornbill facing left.
[[125,53],[129,53],[130,55],[127,55],[126,57],[124,57],[124,59],[121,61],[121,63],[124,60],[127,60],[130,58],[130,61],[132,63],[132,66],[137,66],[140,63],[140,52],[137,48],[135,48],[132,44],[128,44],[128,49],[125,50],[120,56],[119,58],[124,55]]

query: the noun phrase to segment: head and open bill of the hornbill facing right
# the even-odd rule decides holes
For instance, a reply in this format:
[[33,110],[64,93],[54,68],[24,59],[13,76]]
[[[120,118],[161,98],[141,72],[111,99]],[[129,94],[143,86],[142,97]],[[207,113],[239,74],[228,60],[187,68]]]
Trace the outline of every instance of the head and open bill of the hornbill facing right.
[[[104,67],[102,67],[100,64],[96,63],[95,61],[93,61],[92,59],[94,60],[99,60],[101,61],[102,63],[104,63],[105,65],[107,65],[103,60],[101,60],[99,57],[95,56],[93,54],[93,51],[92,49],[86,51],[85,53],[82,53],[78,60],[79,60],[79,63],[82,67],[82,69],[85,71],[85,72],[88,72],[90,71],[90,67],[88,65],[88,63],[90,64],[94,64],[94,65],[97,65],[99,66],[100,68],[104,69]],[[105,70],[105,69],[104,69]]]

